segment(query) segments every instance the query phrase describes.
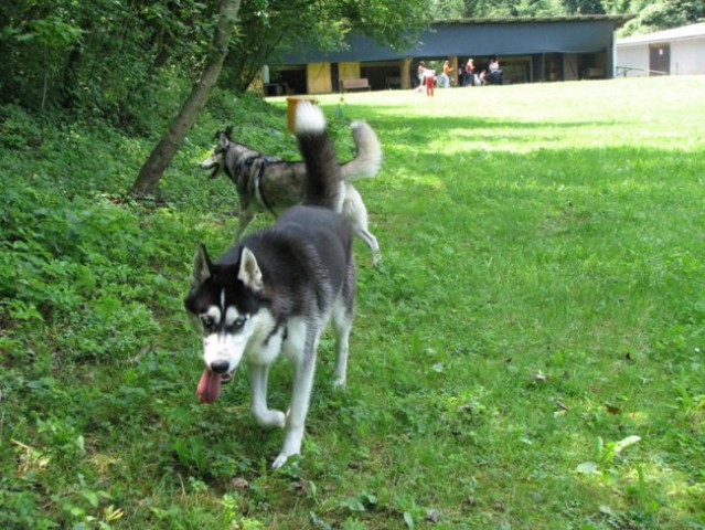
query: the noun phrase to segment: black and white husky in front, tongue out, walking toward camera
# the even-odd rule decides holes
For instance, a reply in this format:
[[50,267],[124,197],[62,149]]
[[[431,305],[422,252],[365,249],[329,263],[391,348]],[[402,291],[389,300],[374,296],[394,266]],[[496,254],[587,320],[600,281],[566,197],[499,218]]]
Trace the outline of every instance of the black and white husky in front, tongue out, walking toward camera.
[[[355,297],[352,232],[337,212],[341,167],[319,107],[298,106],[296,134],[307,169],[302,204],[286,210],[271,227],[245,236],[215,262],[201,246],[185,299],[203,332],[199,401],[213,403],[222,382],[245,364],[255,418],[266,427],[286,428],[275,468],[301,451],[317,349],[329,320],[337,338],[333,384],[345,384]],[[269,367],[281,352],[293,362],[286,414],[267,405]]]

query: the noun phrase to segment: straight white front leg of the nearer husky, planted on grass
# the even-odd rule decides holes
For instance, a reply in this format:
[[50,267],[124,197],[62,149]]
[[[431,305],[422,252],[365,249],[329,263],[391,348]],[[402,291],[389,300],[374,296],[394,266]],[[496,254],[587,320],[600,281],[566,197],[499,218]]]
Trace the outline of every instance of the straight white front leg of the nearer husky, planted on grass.
[[307,350],[300,359],[295,359],[293,361],[293,388],[291,390],[291,404],[287,413],[286,437],[281,453],[271,465],[275,469],[284,466],[290,456],[301,453],[303,426],[309,411],[313,373],[316,371],[316,347],[310,346]]

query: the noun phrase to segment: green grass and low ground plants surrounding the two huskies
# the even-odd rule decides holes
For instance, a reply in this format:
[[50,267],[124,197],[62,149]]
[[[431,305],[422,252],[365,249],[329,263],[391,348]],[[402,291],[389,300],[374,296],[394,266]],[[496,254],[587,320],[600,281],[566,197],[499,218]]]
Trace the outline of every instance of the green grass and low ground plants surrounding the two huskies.
[[197,242],[217,253],[236,224],[195,162],[227,112],[295,157],[286,103],[211,106],[153,203],[124,194],[149,141],[6,119],[0,527],[705,528],[703,94],[320,96],[341,158],[350,119],[383,142],[357,186],[383,261],[356,242],[348,388],[325,338],[303,456],[277,473],[282,433],[255,425],[243,374],[195,403],[181,300]]

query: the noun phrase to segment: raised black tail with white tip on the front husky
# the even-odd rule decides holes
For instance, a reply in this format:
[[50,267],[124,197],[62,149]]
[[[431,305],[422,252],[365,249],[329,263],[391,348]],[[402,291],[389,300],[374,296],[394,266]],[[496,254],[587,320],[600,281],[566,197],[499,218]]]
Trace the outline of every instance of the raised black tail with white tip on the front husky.
[[297,105],[296,136],[307,170],[303,204],[340,211],[344,199],[342,174],[320,107],[309,102]]

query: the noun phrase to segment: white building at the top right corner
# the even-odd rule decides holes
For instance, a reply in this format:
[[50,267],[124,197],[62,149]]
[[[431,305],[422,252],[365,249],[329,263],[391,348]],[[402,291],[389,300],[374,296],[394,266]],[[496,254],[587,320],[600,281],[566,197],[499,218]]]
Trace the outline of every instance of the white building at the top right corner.
[[704,75],[705,23],[617,41],[617,75]]

